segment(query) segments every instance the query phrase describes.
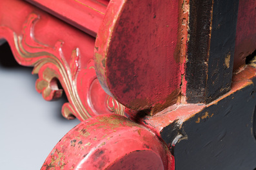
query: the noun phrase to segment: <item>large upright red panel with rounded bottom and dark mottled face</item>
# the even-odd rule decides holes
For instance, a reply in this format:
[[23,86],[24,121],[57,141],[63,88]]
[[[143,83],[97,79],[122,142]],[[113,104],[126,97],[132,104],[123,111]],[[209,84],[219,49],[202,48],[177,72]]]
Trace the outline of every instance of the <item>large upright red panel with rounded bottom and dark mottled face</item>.
[[[104,90],[154,114],[180,94],[179,1],[110,1],[95,42]],[[181,61],[183,62],[183,60]]]

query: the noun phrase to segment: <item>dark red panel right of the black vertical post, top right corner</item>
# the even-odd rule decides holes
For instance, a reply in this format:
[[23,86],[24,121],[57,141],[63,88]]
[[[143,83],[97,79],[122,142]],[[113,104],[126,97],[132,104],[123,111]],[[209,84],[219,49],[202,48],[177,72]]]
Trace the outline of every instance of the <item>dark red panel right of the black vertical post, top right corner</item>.
[[235,37],[234,70],[244,67],[246,56],[256,50],[256,1],[240,0]]

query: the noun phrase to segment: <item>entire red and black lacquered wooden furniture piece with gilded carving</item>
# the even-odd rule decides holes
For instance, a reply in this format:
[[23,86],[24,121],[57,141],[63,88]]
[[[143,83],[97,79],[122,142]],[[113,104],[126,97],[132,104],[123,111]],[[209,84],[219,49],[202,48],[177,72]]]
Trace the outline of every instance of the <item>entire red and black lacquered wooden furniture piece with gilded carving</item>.
[[41,169],[255,169],[255,8],[0,0],[1,44],[81,121]]

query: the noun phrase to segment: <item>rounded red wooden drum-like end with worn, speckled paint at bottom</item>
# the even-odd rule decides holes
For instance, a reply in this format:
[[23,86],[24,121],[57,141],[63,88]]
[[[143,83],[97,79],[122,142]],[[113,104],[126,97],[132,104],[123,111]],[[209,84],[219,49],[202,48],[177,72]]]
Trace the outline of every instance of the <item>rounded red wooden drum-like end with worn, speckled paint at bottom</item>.
[[174,170],[174,158],[155,133],[108,114],[87,119],[68,132],[41,169]]

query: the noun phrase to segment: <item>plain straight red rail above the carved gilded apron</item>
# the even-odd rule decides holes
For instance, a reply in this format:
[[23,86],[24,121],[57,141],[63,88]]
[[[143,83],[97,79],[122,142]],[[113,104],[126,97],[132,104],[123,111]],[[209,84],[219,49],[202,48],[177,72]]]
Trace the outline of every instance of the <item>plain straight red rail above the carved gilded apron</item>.
[[108,0],[26,0],[96,37]]

